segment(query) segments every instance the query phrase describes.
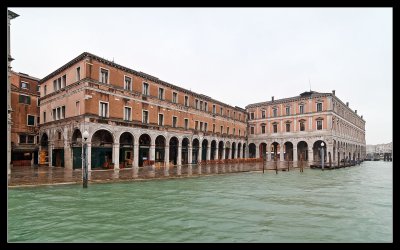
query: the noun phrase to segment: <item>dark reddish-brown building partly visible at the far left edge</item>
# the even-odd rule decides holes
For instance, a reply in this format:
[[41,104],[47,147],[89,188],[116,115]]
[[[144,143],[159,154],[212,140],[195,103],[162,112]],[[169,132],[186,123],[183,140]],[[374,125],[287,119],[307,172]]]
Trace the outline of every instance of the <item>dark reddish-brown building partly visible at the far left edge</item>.
[[13,166],[31,165],[38,159],[39,80],[24,73],[10,72]]

